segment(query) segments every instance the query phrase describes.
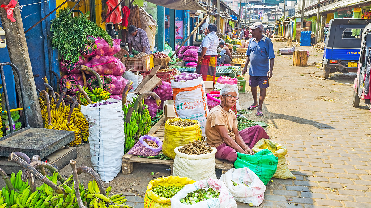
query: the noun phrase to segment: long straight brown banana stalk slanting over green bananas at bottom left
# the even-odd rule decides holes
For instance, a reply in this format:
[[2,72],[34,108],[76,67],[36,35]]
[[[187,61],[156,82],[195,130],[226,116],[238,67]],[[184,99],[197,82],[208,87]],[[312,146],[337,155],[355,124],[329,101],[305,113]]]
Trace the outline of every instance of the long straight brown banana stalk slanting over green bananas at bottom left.
[[35,175],[36,178],[44,182],[46,185],[50,186],[57,194],[63,194],[65,192],[63,188],[54,184],[52,181],[50,181],[48,178],[42,175],[39,171],[37,171],[34,167],[32,167],[30,164],[28,164],[20,157],[18,157],[16,154],[14,154],[14,152],[9,154],[8,160],[17,163],[18,165],[22,166],[24,169]]

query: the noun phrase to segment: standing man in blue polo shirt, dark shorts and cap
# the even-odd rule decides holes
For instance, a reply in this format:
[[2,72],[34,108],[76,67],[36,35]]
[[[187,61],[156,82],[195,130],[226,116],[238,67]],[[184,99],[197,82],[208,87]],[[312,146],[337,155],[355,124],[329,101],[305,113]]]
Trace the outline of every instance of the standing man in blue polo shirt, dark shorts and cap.
[[[269,78],[273,76],[273,65],[275,63],[275,51],[272,41],[263,34],[264,27],[262,23],[254,23],[251,28],[252,38],[249,47],[246,50],[246,64],[242,74],[247,72],[247,64],[250,62],[250,80],[251,93],[254,103],[248,107],[253,110],[257,107],[256,116],[263,116],[262,105],[265,99],[266,90],[269,87]],[[259,103],[257,102],[257,86],[260,88]]]

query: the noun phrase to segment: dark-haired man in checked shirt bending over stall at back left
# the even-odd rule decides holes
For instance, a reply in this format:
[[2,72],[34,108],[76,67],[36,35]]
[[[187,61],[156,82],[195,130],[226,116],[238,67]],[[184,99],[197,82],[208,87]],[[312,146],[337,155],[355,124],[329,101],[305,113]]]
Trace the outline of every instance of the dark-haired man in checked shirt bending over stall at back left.
[[134,25],[128,27],[127,42],[129,44],[129,52],[132,54],[132,49],[138,52],[151,54],[150,41],[148,41],[147,33]]

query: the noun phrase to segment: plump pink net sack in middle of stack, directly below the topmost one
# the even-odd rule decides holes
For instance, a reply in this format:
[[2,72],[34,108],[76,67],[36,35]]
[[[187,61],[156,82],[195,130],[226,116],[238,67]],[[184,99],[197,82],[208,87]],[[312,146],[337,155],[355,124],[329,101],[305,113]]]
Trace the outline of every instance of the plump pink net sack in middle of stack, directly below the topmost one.
[[94,56],[92,60],[84,65],[92,68],[99,75],[122,76],[125,72],[124,64],[114,56]]

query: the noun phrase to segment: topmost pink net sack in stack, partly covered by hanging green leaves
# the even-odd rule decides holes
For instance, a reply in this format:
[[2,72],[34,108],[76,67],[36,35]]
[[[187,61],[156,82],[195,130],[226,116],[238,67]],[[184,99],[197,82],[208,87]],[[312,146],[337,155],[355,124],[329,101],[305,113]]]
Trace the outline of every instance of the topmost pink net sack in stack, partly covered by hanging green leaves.
[[106,40],[101,37],[86,37],[86,43],[80,48],[80,52],[84,57],[93,57],[93,56],[113,56],[118,51],[121,50],[120,48],[120,39],[113,38],[112,39],[113,45],[110,46]]

